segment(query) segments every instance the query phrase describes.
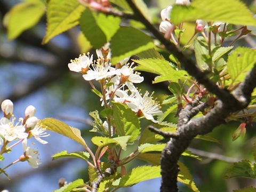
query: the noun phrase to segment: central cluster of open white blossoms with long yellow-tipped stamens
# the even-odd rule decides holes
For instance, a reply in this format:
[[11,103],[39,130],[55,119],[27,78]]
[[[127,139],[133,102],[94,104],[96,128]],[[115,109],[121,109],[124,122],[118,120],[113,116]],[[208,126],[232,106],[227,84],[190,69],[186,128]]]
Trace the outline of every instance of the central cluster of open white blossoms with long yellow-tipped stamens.
[[[143,97],[140,91],[133,85],[141,83],[144,78],[134,71],[134,62],[129,63],[125,58],[119,61],[115,67],[111,66],[111,52],[109,44],[96,51],[98,59],[92,61],[92,55],[80,55],[79,58],[71,60],[68,67],[71,71],[83,74],[86,81],[99,81],[101,84],[102,106],[109,108],[110,101],[125,103],[138,117],[145,117],[157,122],[153,116],[162,115],[159,104],[153,99],[152,94],[146,92]],[[94,85],[92,86],[95,89]]]

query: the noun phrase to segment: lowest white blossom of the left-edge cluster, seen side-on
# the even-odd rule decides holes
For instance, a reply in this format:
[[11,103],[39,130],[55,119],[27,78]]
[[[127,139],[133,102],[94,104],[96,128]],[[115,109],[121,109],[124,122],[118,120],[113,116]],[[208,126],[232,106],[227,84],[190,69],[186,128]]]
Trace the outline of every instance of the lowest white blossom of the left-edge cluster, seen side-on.
[[27,139],[22,141],[22,148],[24,151],[24,156],[27,159],[29,165],[33,168],[37,168],[38,165],[41,164],[38,159],[38,151],[27,146]]

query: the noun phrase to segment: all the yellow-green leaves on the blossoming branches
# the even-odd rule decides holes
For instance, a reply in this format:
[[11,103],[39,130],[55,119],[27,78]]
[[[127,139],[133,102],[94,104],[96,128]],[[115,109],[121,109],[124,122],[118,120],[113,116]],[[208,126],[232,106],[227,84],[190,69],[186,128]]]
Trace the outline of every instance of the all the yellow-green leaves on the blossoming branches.
[[[117,9],[126,13],[132,13],[129,5],[123,0],[111,0]],[[141,0],[134,0],[134,3],[139,7],[143,15],[153,22],[152,15],[147,6]],[[232,5],[232,7],[230,7]],[[47,9],[46,9],[47,8]],[[231,9],[232,8],[232,9]],[[47,11],[46,11],[47,10]],[[138,63],[137,70],[147,71],[156,74],[153,83],[168,82],[170,95],[165,95],[162,105],[166,106],[163,116],[158,118],[159,123],[155,126],[162,131],[175,132],[176,125],[170,122],[164,122],[168,119],[170,114],[175,114],[178,110],[178,105],[184,105],[188,100],[182,101],[184,95],[189,99],[195,94],[185,93],[185,86],[191,87],[195,79],[193,79],[187,71],[182,70],[179,61],[173,55],[169,58],[164,58],[158,53],[160,50],[153,41],[153,38],[143,33],[142,28],[145,28],[143,23],[130,22],[131,26],[121,27],[121,18],[113,15],[106,15],[104,13],[96,13],[79,4],[76,0],[26,0],[16,6],[5,15],[5,25],[8,30],[8,38],[14,39],[18,37],[24,30],[33,27],[42,17],[46,11],[47,29],[46,35],[42,43],[47,43],[51,38],[73,28],[77,25],[81,28],[82,33],[78,36],[79,44],[83,52],[87,52],[91,47],[99,49],[101,46],[110,42],[111,62],[117,63],[123,58],[130,55],[138,55],[139,60],[134,60]],[[171,13],[171,20],[174,25],[179,25],[181,22],[185,23],[185,27],[189,26],[189,22],[194,22],[196,19],[203,19],[208,22],[222,21],[233,25],[251,25],[256,26],[256,20],[253,19],[252,14],[238,0],[222,0],[207,1],[195,0],[190,6],[174,5]],[[140,25],[138,25],[138,23]],[[186,29],[186,28],[185,28]],[[232,31],[232,26],[227,28],[225,33],[219,33],[218,37],[228,37],[236,35]],[[209,30],[213,30],[209,28]],[[175,31],[177,36],[181,36],[181,30]],[[222,31],[223,32],[223,31]],[[187,33],[185,31],[185,33]],[[183,34],[184,36],[186,34]],[[192,34],[191,34],[192,35]],[[182,42],[182,41],[181,41]],[[221,85],[222,88],[232,91],[239,83],[244,80],[246,73],[253,67],[256,61],[256,52],[246,47],[237,47],[235,50],[233,46],[222,46],[221,44],[209,44],[202,36],[198,36],[194,40],[194,51],[197,65],[202,70],[209,73],[212,81]],[[185,47],[187,48],[187,47]],[[158,51],[157,51],[158,50]],[[231,54],[230,52],[233,51]],[[202,90],[198,90],[199,92]],[[195,93],[198,94],[199,92]],[[100,95],[100,93],[97,93]],[[253,93],[256,97],[256,92]],[[205,95],[205,101],[209,95]],[[209,109],[210,110],[210,109]],[[205,111],[207,113],[207,111]],[[165,143],[161,141],[164,139],[161,135],[150,132],[148,129],[143,129],[141,132],[140,121],[135,113],[122,103],[113,103],[112,109],[93,111],[90,115],[94,119],[92,132],[97,132],[101,136],[95,136],[91,140],[95,146],[98,147],[95,154],[98,157],[105,156],[109,149],[126,150],[127,145],[137,145],[135,151],[131,156],[115,159],[118,166],[124,166],[127,162],[134,158],[140,158],[153,166],[135,167],[130,172],[124,171],[115,172],[110,177],[104,178],[100,183],[98,191],[105,189],[116,189],[121,187],[129,187],[143,180],[148,180],[156,177],[161,177],[160,174],[160,158],[161,151],[165,147]],[[203,115],[203,114],[199,114]],[[108,131],[103,126],[101,118],[113,117],[111,121],[115,125],[116,134],[109,137]],[[230,119],[237,119],[239,116],[232,116]],[[43,119],[41,122],[48,130],[65,135],[70,139],[80,143],[86,149],[89,149],[85,140],[81,137],[78,129],[70,127],[65,123],[53,118]],[[198,139],[204,139],[216,142],[214,138],[209,136],[198,136]],[[91,151],[90,153],[80,151],[74,153],[67,153],[62,151],[53,155],[53,160],[63,157],[81,158],[87,163],[93,164]],[[108,151],[109,155],[110,152]],[[113,155],[113,154],[112,154]],[[185,151],[183,156],[190,156],[201,160],[200,157]],[[95,158],[95,157],[94,157]],[[105,158],[107,159],[107,157]],[[101,171],[105,171],[110,166],[108,161],[99,163]],[[179,162],[180,172],[178,181],[185,183],[193,191],[199,191],[189,173],[187,167]],[[255,179],[254,164],[250,161],[244,160],[238,162],[230,167],[225,174],[225,178],[232,177],[250,177]],[[90,183],[97,180],[95,167],[90,166]],[[138,176],[139,175],[139,176]],[[84,183],[82,179],[65,185],[56,190],[60,191],[76,191],[86,189],[87,182]],[[255,188],[246,188],[236,190],[253,191]]]

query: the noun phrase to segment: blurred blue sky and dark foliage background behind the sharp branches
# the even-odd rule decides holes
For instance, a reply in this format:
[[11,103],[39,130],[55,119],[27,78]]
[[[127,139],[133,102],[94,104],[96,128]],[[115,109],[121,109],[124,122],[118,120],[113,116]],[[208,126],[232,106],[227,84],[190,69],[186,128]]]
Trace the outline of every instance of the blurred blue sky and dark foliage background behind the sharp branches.
[[[256,13],[256,1],[244,0],[243,2],[253,13]],[[18,38],[13,41],[7,40],[3,19],[5,14],[17,3],[20,1],[0,1],[0,100],[11,99],[14,102],[14,114],[21,117],[28,105],[34,105],[38,118],[59,118],[68,125],[77,127],[82,131],[86,142],[95,148],[90,141],[95,133],[89,131],[92,121],[89,112],[101,109],[99,98],[90,91],[89,84],[83,81],[81,75],[70,72],[67,67],[70,59],[74,59],[83,51],[90,49],[90,44],[85,42],[79,28],[74,27],[42,45],[46,29],[45,15],[36,26],[24,31]],[[167,5],[173,4],[174,0],[147,0],[146,3],[154,15],[153,22],[158,28],[159,13]],[[138,27],[136,22],[122,23],[122,25]],[[185,28],[187,30],[183,36],[184,42],[194,33],[194,25],[188,24]],[[255,37],[247,35],[240,39],[236,46],[255,48],[255,40]],[[169,59],[169,53],[163,50],[159,51],[166,59]],[[90,52],[95,55],[95,50],[90,50]],[[188,50],[187,54],[193,57],[193,50]],[[167,91],[166,84],[152,85],[151,81],[154,77],[149,73],[143,73],[143,75],[145,82],[140,85],[142,91],[154,90],[159,99],[164,94],[171,94]],[[175,113],[169,115],[167,121],[177,121],[174,115]],[[141,124],[142,129],[147,126],[146,121],[142,121]],[[255,126],[247,127],[245,138],[239,138],[233,142],[231,135],[238,125],[239,122],[231,122],[214,129],[210,135],[218,139],[219,143],[198,139],[191,143],[191,151],[197,149],[198,151],[195,152],[202,155],[203,161],[182,157],[181,161],[189,167],[200,191],[233,191],[249,185],[256,186],[252,179],[223,179],[223,172],[230,162],[244,158],[253,161],[252,148],[256,140]],[[51,155],[59,151],[79,151],[83,150],[82,146],[55,133],[51,133],[47,141],[49,141],[47,145],[36,146],[41,154],[41,166],[38,169],[33,169],[25,162],[10,167],[7,172],[10,174],[11,180],[8,181],[3,175],[0,175],[0,190],[45,192],[57,189],[58,180],[62,177],[67,181],[81,177],[85,181],[88,180],[87,165],[82,161],[77,159],[51,161]],[[14,151],[13,154],[17,156],[6,156],[6,162],[17,159],[21,155],[22,149],[17,147],[14,148]],[[132,151],[132,146],[127,149],[127,154],[130,151]],[[135,164],[136,166],[145,164],[140,160],[132,163],[127,164],[127,170],[130,166],[134,167]],[[1,166],[5,165],[1,164]],[[119,191],[158,191],[160,181],[160,178],[145,181]],[[191,191],[183,185],[180,186],[180,189],[184,192]]]

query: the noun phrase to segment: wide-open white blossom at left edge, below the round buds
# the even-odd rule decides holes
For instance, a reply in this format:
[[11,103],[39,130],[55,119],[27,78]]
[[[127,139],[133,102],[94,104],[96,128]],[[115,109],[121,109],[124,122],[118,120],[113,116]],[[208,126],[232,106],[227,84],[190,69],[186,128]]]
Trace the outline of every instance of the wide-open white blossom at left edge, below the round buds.
[[25,126],[22,125],[23,119],[20,118],[19,122],[14,125],[15,117],[12,118],[12,121],[2,117],[0,120],[0,134],[3,135],[5,140],[13,141],[17,138],[25,139],[28,137],[26,133]]

